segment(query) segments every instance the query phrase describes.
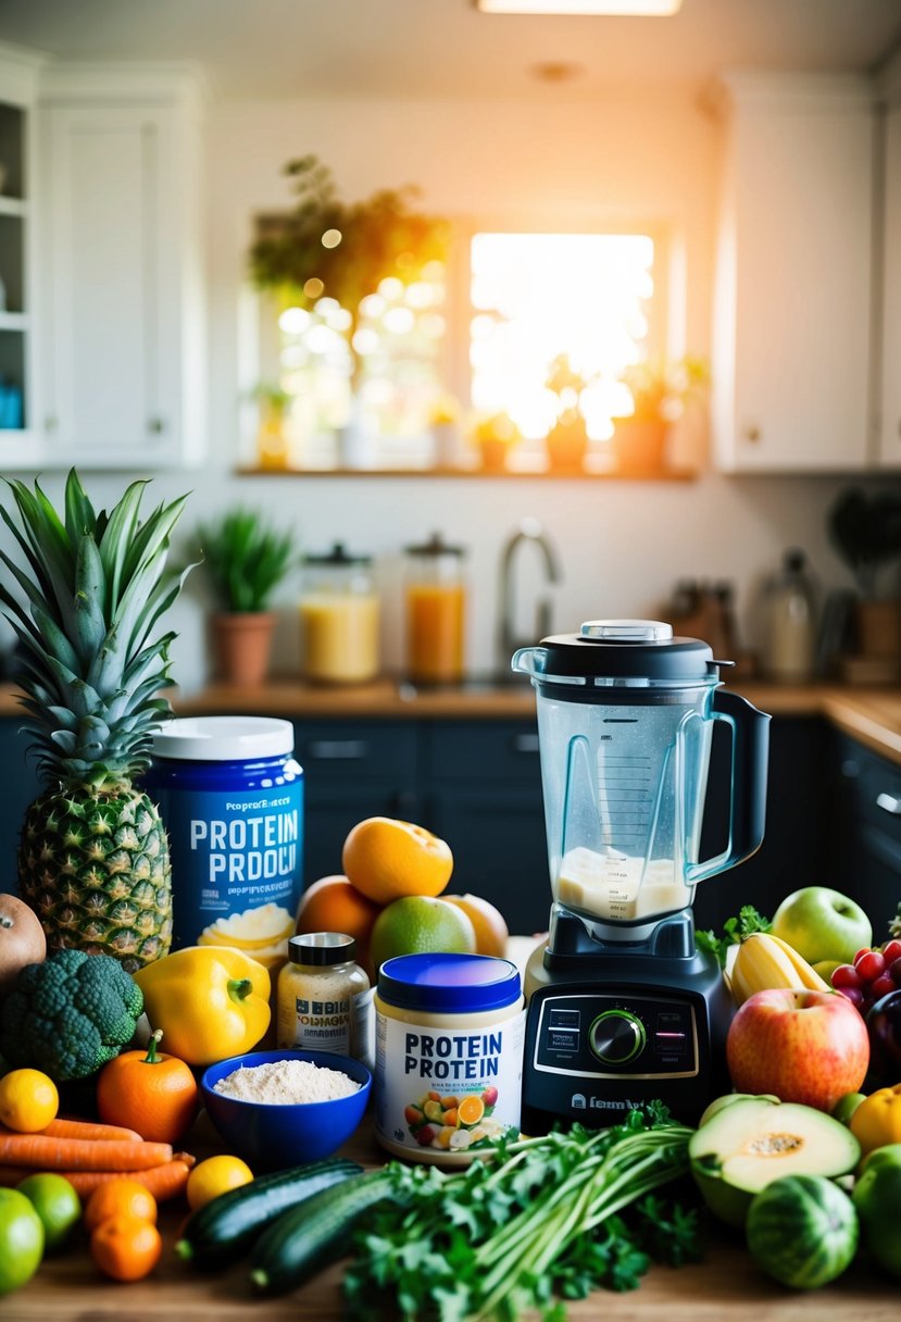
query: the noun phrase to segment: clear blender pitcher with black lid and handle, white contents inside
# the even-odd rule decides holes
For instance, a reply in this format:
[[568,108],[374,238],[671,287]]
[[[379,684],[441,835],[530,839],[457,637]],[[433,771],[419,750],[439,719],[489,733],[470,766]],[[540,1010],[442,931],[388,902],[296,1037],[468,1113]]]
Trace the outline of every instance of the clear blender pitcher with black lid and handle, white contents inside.
[[[558,904],[591,924],[639,928],[687,908],[698,882],[760,846],[769,717],[717,690],[728,664],[655,620],[591,620],[515,653],[513,669],[536,690]],[[732,732],[728,842],[700,859],[717,720]]]

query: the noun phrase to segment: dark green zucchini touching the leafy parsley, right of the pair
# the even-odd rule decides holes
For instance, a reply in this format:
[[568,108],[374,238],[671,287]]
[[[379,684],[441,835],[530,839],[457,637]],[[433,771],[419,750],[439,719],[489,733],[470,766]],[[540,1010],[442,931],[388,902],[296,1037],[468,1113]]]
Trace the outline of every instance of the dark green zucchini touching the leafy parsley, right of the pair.
[[350,1232],[365,1212],[390,1196],[390,1170],[325,1188],[284,1212],[260,1235],[251,1253],[251,1281],[264,1294],[285,1294],[350,1249]]

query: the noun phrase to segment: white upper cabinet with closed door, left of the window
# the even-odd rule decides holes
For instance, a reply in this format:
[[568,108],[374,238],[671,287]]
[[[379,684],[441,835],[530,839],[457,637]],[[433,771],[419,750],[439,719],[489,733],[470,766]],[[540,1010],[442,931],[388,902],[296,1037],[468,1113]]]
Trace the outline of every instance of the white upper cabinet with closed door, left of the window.
[[42,81],[38,144],[41,461],[199,463],[206,368],[193,79],[59,66]]

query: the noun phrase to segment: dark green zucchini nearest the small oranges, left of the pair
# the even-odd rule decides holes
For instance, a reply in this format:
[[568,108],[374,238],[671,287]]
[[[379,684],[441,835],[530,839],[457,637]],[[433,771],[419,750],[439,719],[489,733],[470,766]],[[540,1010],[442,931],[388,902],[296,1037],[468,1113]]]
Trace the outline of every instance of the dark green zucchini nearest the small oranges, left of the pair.
[[336,1157],[291,1170],[259,1175],[248,1185],[219,1194],[188,1218],[176,1252],[198,1266],[218,1266],[240,1257],[256,1236],[288,1208],[359,1175],[355,1161]]

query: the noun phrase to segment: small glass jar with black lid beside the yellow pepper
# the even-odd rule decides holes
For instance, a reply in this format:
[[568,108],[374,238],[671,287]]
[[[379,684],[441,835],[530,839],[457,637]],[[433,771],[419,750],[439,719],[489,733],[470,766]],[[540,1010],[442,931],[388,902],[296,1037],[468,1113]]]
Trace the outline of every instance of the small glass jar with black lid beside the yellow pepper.
[[357,943],[343,932],[304,932],[288,941],[279,973],[277,1044],[334,1051],[366,1060],[371,995],[357,961]]

